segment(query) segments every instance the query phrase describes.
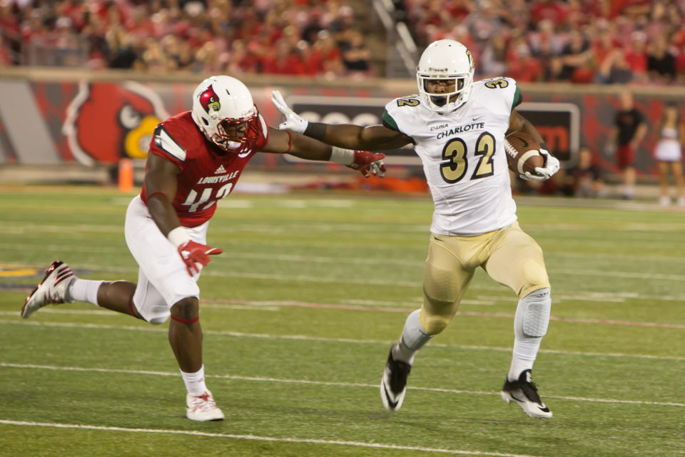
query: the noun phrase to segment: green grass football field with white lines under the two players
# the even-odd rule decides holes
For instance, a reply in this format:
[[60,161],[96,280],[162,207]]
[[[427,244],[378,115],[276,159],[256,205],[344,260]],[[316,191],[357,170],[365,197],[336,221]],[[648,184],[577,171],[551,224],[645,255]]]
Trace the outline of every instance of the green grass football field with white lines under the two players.
[[2,188],[0,456],[685,456],[685,212],[519,204],[554,300],[540,421],[499,398],[517,299],[482,271],[383,410],[387,350],[422,299],[427,197],[230,196],[200,281],[226,420],[192,423],[166,324],[85,303],[19,318],[55,258],[136,281],[129,199]]

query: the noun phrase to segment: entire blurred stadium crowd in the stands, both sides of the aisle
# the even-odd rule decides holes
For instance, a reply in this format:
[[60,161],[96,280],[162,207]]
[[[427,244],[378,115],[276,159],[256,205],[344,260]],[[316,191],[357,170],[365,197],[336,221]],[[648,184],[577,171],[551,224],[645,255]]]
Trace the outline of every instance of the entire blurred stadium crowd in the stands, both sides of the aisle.
[[[685,0],[392,0],[481,77],[682,84]],[[371,0],[0,0],[0,65],[385,76]]]

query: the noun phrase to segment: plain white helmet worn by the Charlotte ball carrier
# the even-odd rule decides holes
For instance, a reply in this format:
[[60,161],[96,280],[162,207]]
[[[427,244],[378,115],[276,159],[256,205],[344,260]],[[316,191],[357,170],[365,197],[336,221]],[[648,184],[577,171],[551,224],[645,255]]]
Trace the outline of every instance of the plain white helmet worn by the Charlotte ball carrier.
[[[473,57],[466,46],[455,40],[433,41],[421,54],[416,67],[419,94],[426,106],[437,113],[455,111],[469,99],[473,85]],[[443,91],[429,91],[427,81],[442,80]],[[454,82],[454,89],[450,85]]]

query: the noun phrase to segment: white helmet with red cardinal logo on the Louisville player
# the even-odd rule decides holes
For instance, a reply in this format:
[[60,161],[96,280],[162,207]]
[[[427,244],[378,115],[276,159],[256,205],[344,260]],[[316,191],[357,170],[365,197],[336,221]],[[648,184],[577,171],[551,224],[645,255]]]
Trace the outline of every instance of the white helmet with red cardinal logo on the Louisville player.
[[263,134],[250,90],[231,76],[210,76],[193,92],[193,121],[220,149],[242,153]]

